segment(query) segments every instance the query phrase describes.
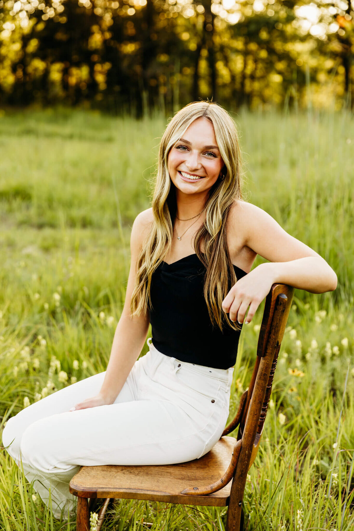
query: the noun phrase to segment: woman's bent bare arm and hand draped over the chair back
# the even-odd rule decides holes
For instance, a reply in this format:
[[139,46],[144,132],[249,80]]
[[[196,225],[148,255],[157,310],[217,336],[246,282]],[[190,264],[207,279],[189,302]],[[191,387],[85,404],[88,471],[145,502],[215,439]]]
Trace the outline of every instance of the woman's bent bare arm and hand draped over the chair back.
[[242,225],[245,245],[263,256],[268,263],[258,265],[240,278],[222,302],[231,321],[250,322],[272,284],[288,284],[310,293],[333,291],[337,276],[329,264],[313,249],[290,236],[264,210],[240,202],[238,227]]

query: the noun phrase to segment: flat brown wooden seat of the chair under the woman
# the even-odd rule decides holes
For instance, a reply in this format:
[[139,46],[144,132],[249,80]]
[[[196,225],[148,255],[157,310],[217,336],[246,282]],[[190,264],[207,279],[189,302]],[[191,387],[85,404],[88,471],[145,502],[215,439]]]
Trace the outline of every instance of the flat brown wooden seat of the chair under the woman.
[[224,436],[200,459],[175,465],[83,466],[70,481],[70,492],[80,498],[128,498],[205,506],[227,506],[230,481],[208,495],[181,494],[187,487],[218,481],[229,466],[236,440]]

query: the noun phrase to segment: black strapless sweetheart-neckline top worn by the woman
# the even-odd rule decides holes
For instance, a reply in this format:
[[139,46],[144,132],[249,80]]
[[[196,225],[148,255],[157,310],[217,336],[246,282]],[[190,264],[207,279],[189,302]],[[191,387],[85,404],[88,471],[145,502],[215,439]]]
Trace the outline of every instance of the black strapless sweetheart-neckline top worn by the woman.
[[[234,265],[237,279],[247,275]],[[212,327],[203,294],[205,267],[195,253],[162,262],[151,282],[152,344],[167,356],[215,369],[235,365],[240,331]],[[231,288],[231,286],[230,286]]]

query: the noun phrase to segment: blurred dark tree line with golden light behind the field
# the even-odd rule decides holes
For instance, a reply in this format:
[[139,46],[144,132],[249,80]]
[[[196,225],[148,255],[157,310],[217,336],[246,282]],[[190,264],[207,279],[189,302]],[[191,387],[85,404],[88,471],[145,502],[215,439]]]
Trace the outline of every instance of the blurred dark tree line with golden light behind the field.
[[0,0],[2,105],[352,108],[354,0]]

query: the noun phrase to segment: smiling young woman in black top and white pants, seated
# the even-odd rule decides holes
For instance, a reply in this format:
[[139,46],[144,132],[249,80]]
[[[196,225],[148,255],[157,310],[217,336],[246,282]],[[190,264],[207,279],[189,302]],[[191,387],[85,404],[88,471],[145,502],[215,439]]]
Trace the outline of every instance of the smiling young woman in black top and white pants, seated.
[[[56,516],[74,509],[68,483],[81,465],[162,465],[208,452],[227,421],[241,325],[272,284],[336,288],[320,255],[241,199],[240,176],[236,127],[222,107],[198,101],[171,119],[152,208],[132,227],[107,370],[23,409],[3,432],[47,504],[51,487]],[[257,254],[269,262],[251,271]],[[150,323],[149,352],[137,359]]]

